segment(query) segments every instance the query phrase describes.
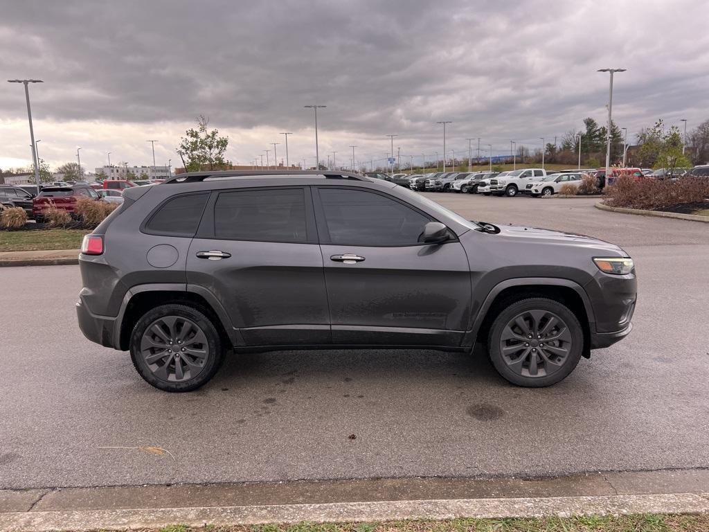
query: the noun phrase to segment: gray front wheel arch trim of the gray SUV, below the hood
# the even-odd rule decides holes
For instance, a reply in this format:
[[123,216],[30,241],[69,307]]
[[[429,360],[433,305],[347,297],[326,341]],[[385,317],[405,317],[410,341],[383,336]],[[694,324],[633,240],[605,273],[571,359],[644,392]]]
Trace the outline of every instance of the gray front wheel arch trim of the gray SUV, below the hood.
[[467,333],[464,345],[472,347],[478,338],[486,341],[494,318],[510,304],[530,297],[545,297],[559,301],[571,309],[584,328],[584,357],[591,353],[591,331],[595,331],[596,318],[588,294],[580,284],[569,279],[526,277],[507,279],[496,284],[487,294]]

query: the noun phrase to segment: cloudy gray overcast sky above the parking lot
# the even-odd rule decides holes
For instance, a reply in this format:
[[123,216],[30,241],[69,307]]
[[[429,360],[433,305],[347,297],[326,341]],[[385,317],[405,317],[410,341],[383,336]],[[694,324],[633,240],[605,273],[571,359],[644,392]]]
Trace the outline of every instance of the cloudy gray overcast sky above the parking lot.
[[[203,114],[248,164],[290,131],[292,162],[337,151],[349,164],[448,149],[533,149],[613,118],[631,136],[657,118],[709,118],[709,3],[642,1],[0,0],[3,79],[30,86],[35,138],[52,170],[76,160],[150,165],[179,156]],[[0,167],[28,165],[19,84],[0,83]],[[477,141],[474,140],[474,155]],[[429,156],[431,159],[432,155]],[[449,154],[450,157],[450,154]],[[408,157],[406,158],[408,162]],[[402,161],[403,162],[403,161]]]

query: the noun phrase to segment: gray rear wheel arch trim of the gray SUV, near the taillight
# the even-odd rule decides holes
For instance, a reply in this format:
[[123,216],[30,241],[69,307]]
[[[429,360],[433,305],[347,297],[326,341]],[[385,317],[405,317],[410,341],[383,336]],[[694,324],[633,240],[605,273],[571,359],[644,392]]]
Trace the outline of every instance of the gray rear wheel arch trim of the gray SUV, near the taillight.
[[116,348],[128,350],[130,333],[140,316],[167,303],[191,306],[206,314],[219,331],[224,345],[231,347],[242,343],[239,331],[233,328],[223,306],[207,289],[191,284],[141,284],[128,290],[121,303],[113,333]]

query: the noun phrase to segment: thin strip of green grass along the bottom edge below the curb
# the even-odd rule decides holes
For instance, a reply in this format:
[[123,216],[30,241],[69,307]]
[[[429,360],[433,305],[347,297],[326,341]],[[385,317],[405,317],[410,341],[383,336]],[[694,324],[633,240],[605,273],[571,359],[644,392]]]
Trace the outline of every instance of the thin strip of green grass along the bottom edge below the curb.
[[[706,532],[709,515],[576,516],[542,519],[449,519],[382,523],[297,523],[294,525],[168,526],[159,532]],[[145,531],[148,532],[148,531]]]

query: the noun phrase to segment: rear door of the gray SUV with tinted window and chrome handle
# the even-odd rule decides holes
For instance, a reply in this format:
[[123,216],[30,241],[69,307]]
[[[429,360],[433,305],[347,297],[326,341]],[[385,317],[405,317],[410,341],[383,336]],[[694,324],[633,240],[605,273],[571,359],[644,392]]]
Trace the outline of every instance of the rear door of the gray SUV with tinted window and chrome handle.
[[330,343],[308,187],[212,192],[190,245],[187,282],[214,294],[247,345]]

